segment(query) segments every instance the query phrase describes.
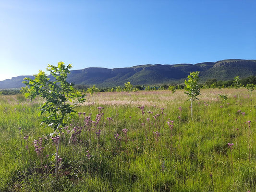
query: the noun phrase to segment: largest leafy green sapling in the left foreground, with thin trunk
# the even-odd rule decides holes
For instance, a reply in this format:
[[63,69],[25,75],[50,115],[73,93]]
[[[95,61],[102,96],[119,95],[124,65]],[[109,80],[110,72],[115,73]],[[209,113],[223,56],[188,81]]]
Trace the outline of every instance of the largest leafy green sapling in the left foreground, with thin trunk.
[[[74,107],[78,103],[85,101],[85,95],[75,91],[73,83],[67,82],[67,75],[70,73],[72,65],[64,65],[64,62],[58,62],[58,66],[48,65],[47,71],[50,72],[52,80],[43,71],[34,75],[35,79],[24,78],[24,96],[26,98],[35,98],[40,96],[46,99],[46,102],[39,108],[38,116],[46,113],[42,123],[51,126],[61,137],[61,129],[65,127],[72,116],[75,114]],[[59,143],[56,147],[56,177],[58,176],[58,151]]]

